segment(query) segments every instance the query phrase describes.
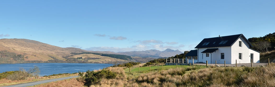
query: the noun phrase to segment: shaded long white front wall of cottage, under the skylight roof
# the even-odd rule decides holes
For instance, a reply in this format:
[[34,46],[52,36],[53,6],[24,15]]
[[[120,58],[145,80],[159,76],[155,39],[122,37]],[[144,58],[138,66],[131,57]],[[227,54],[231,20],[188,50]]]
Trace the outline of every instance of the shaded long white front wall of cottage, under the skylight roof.
[[[209,53],[209,57],[206,57],[206,53],[201,53],[201,52],[210,48],[198,49],[199,62],[206,63],[206,61],[208,61],[208,64],[210,63],[215,64],[215,61],[217,61],[218,64],[224,64],[224,61],[226,61],[226,64],[231,64],[231,47],[211,47],[211,48],[219,48],[219,49],[216,50],[216,52]],[[221,53],[224,53],[224,59],[221,59]],[[212,54],[212,62],[211,62],[211,54]]]

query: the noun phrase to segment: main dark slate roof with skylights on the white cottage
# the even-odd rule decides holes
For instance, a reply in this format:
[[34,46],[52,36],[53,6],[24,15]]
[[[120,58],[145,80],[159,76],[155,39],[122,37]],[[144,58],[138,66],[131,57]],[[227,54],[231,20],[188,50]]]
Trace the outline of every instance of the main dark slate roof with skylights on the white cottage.
[[[244,37],[243,34],[237,34],[237,35],[230,35],[230,36],[223,36],[223,37],[204,38],[204,40],[202,40],[195,48],[232,46],[241,36]],[[244,39],[249,43],[250,47],[253,47],[245,37]],[[219,44],[221,41],[227,41],[227,42],[225,44]],[[203,46],[205,42],[206,43],[210,42],[210,43]]]

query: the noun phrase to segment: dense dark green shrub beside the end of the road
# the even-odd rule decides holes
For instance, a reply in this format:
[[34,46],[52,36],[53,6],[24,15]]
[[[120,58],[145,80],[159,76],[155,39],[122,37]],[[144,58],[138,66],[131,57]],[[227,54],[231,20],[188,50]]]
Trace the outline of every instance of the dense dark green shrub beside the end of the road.
[[95,72],[95,71],[86,71],[86,74],[83,76],[84,73],[79,72],[79,76],[84,79],[84,83],[86,86],[98,84],[102,79],[114,79],[117,74],[108,70],[103,69],[101,71]]

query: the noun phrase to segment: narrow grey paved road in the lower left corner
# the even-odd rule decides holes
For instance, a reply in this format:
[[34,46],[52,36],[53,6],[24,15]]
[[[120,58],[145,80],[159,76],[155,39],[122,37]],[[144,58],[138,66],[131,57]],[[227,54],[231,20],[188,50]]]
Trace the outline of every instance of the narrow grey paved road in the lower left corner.
[[48,80],[42,80],[42,81],[37,81],[37,82],[22,83],[22,84],[2,86],[2,87],[27,87],[27,86],[33,86],[33,85],[38,85],[38,84],[42,84],[42,83],[54,82],[54,81],[58,81],[58,80],[71,79],[71,78],[75,78],[75,77],[78,77],[78,76],[70,76],[70,77],[63,77],[63,78],[57,78],[57,79],[48,79]]

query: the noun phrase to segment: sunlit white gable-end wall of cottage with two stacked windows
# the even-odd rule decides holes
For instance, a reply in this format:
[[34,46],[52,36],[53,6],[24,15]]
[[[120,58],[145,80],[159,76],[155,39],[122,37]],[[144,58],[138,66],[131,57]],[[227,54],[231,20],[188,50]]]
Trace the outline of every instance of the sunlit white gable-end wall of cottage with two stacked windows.
[[[241,47],[239,46],[239,41],[241,41]],[[238,63],[250,63],[250,53],[249,53],[249,43],[245,40],[244,37],[240,37],[232,46],[231,46],[231,61],[232,64]],[[241,59],[239,59],[239,53],[241,53]]]

